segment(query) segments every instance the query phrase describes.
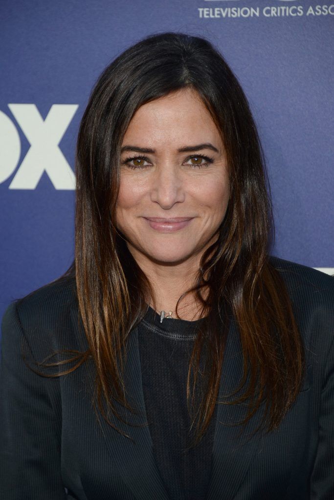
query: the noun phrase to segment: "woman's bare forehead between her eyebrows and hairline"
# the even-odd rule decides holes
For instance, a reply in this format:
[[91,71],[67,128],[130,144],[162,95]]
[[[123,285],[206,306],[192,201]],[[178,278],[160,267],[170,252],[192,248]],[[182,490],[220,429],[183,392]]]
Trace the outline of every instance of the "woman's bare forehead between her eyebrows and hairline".
[[123,144],[147,146],[216,142],[221,137],[198,93],[190,88],[143,104],[132,117]]

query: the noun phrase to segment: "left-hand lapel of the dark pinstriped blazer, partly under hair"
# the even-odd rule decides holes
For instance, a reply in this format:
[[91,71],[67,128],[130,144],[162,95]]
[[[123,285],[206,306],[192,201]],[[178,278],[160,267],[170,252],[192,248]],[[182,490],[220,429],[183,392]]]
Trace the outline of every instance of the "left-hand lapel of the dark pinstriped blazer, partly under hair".
[[[82,349],[87,349],[87,339],[82,323],[78,326],[78,310],[71,309],[71,317],[78,337],[79,345]],[[118,467],[122,479],[138,500],[147,498],[159,498],[168,500],[168,494],[159,474],[154,455],[152,439],[146,421],[146,411],[144,394],[142,388],[141,365],[139,357],[138,330],[134,328],[129,336],[127,362],[125,367],[125,385],[127,397],[130,404],[141,410],[138,415],[133,415],[128,411],[126,418],[129,423],[141,424],[142,426],[126,425],[116,416],[111,415],[110,419],[117,428],[129,434],[134,441],[124,437],[112,428],[98,411],[103,438],[109,450],[113,463]],[[93,378],[91,379],[93,383]],[[117,410],[124,415],[122,407],[115,403]],[[143,425],[145,424],[146,425]],[[93,435],[93,430],[92,430]]]

